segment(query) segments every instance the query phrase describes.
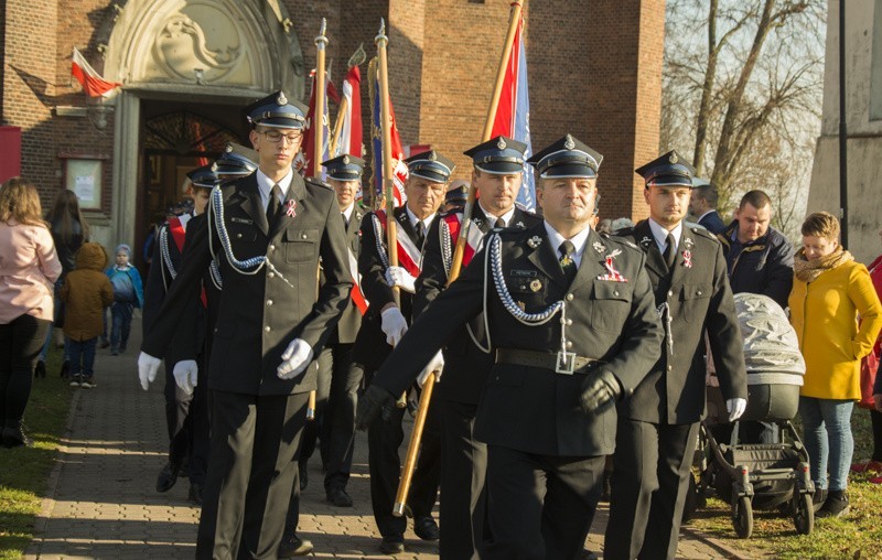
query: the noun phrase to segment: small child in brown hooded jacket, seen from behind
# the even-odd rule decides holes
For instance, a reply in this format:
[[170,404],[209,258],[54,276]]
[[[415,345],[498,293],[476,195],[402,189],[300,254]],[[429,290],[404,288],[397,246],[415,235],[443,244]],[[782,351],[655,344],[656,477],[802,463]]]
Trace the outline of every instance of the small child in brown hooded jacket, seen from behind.
[[85,243],[76,254],[73,270],[61,290],[65,303],[64,334],[71,356],[71,387],[92,389],[95,384],[95,346],[104,330],[104,310],[114,301],[110,280],[103,273],[107,251],[97,243]]

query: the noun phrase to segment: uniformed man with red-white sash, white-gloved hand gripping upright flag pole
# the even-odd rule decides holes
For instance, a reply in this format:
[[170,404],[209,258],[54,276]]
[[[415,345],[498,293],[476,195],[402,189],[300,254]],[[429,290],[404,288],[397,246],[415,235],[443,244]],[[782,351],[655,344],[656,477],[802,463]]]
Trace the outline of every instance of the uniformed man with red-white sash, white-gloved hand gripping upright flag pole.
[[[454,168],[452,161],[434,150],[405,161],[410,172],[405,184],[407,203],[395,208],[390,218],[395,219],[398,228],[398,267],[389,266],[386,213],[372,212],[362,220],[358,271],[362,273],[364,295],[370,306],[355,341],[353,367],[363,371],[368,385],[374,371],[383,365],[407,331],[426,235],[438,217],[438,208],[447,192],[445,184]],[[392,286],[400,288],[400,308],[395,303]],[[404,388],[399,395],[401,392]],[[380,550],[387,554],[405,550],[407,519],[392,516],[401,470],[398,448],[405,437],[401,428],[404,413],[404,408],[396,408],[388,418],[377,419],[367,434],[370,503],[374,519],[383,536]],[[439,538],[438,525],[432,518],[432,507],[438,496],[441,452],[441,434],[435,422],[435,414],[430,413],[408,498],[413,514],[413,532],[423,540]]]

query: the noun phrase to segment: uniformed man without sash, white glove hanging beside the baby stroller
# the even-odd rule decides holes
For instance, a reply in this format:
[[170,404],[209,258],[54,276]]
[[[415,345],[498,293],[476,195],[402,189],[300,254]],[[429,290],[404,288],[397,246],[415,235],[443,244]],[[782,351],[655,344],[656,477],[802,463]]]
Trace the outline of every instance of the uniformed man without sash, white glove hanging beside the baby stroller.
[[704,414],[707,330],[729,420],[746,406],[742,337],[713,234],[684,222],[693,170],[676,152],[639,168],[649,218],[621,234],[646,254],[665,341],[662,357],[619,410],[604,558],[674,558]]

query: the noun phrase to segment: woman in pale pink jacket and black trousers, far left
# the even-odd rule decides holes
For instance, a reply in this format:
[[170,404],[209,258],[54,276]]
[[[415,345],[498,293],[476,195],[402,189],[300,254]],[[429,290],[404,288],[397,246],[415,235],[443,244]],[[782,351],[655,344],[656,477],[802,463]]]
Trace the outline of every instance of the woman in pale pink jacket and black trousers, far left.
[[53,315],[53,282],[62,273],[33,184],[0,186],[0,442],[30,445],[22,417],[34,363]]

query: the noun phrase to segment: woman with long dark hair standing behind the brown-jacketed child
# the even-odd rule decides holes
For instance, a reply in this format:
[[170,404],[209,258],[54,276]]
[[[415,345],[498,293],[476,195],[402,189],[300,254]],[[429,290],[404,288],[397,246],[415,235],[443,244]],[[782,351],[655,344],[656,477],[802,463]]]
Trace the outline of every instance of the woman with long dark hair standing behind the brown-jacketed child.
[[[58,255],[58,260],[62,263],[62,276],[55,282],[54,316],[55,326],[61,329],[63,326],[62,321],[64,320],[64,304],[57,298],[57,294],[62,288],[62,283],[64,283],[64,278],[76,268],[76,251],[79,250],[79,247],[85,241],[89,240],[89,225],[79,211],[79,201],[76,197],[76,193],[67,189],[58,191],[52,209],[50,209],[46,215],[46,222],[49,222],[50,230],[52,231],[52,240],[55,243],[55,252]],[[45,363],[50,344],[52,344],[52,324],[49,326],[46,342],[36,362],[36,367],[34,369],[36,377],[46,376]],[[68,354],[67,347],[65,346],[61,370],[62,377],[67,375],[68,367]]]

